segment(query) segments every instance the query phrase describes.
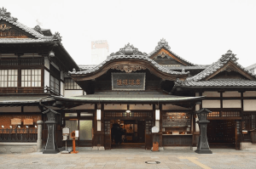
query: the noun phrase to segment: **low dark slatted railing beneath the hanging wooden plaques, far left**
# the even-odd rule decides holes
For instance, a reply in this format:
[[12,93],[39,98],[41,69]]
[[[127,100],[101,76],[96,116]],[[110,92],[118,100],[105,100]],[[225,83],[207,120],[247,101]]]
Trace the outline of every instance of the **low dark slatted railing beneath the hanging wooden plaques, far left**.
[[38,129],[0,129],[0,142],[37,142]]

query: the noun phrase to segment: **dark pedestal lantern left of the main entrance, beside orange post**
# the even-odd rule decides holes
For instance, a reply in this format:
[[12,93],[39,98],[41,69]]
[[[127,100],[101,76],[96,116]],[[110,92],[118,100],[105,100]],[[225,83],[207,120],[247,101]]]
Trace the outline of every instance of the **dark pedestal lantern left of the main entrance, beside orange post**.
[[55,130],[57,124],[56,115],[60,115],[60,113],[56,112],[55,110],[49,109],[44,111],[43,114],[47,115],[47,121],[45,121],[44,123],[47,124],[48,128],[48,137],[43,154],[56,154],[60,152],[55,138]]

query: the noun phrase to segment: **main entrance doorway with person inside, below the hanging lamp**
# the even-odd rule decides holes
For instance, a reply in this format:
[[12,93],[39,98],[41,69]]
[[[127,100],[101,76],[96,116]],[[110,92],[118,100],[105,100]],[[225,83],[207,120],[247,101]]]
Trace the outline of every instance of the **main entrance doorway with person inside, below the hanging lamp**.
[[112,120],[111,149],[145,149],[145,121]]

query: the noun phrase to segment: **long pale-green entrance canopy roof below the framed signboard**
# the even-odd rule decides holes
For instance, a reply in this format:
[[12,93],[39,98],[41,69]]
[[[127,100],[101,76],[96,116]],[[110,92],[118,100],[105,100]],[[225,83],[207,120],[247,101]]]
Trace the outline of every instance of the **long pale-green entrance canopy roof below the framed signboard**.
[[[106,103],[106,104],[187,104],[191,106],[200,102],[204,97],[176,96],[160,92],[99,92],[95,94],[59,97],[55,100],[69,103]],[[185,106],[185,107],[187,107]]]

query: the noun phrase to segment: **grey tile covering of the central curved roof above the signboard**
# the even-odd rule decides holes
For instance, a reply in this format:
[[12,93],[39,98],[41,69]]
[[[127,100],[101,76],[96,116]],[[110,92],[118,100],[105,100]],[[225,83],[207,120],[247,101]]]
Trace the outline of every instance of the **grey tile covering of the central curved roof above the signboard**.
[[[124,49],[124,48],[121,48],[121,49]],[[165,72],[165,73],[168,73],[168,74],[171,74],[171,75],[186,75],[186,74],[189,74],[189,71],[187,71],[187,72],[177,72],[177,71],[173,71],[173,70],[168,70],[168,69],[166,69],[166,67],[164,67],[162,65],[159,65],[153,59],[148,58],[148,56],[146,54],[143,54],[139,51],[137,51],[136,54],[133,53],[131,55],[128,55],[128,54],[125,54],[125,52],[121,51],[121,49],[120,49],[119,52],[110,55],[108,57],[108,59],[104,60],[100,65],[97,65],[96,67],[94,67],[90,70],[82,70],[82,71],[73,70],[73,72],[69,71],[69,74],[84,75],[84,74],[93,73],[96,70],[99,70],[103,65],[106,65],[110,60],[114,60],[114,59],[144,59],[144,60],[147,60],[151,65],[154,65],[155,68],[157,68],[158,70],[160,70],[162,72]],[[130,49],[130,46],[129,46],[129,49]]]

